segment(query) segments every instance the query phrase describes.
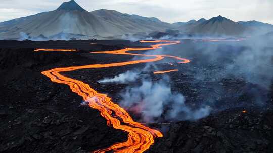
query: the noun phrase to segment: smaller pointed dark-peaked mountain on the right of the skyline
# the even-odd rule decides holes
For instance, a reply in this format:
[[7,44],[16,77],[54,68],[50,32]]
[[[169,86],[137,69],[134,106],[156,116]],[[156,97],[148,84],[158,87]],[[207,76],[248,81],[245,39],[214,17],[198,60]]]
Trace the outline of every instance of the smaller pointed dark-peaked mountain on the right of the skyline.
[[190,32],[204,35],[242,35],[248,28],[228,18],[218,16],[193,27]]

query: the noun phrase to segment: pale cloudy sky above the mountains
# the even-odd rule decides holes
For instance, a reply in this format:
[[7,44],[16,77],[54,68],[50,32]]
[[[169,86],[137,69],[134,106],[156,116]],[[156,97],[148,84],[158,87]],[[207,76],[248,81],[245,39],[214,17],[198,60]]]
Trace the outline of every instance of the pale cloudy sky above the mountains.
[[[224,16],[233,21],[257,20],[273,24],[273,0],[75,0],[87,11],[116,10],[173,23]],[[62,0],[1,0],[0,22],[52,11]]]

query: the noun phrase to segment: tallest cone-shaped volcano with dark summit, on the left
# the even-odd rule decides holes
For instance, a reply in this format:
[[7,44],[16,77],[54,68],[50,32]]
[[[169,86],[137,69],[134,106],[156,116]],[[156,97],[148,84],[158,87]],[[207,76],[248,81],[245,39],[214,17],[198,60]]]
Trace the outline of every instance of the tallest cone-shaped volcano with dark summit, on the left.
[[50,37],[59,33],[106,36],[110,31],[115,31],[112,34],[121,32],[97,19],[73,0],[63,3],[57,10],[8,21],[0,27],[0,30],[8,28],[8,31],[1,33],[0,39],[17,39],[21,37],[20,33],[30,37]]

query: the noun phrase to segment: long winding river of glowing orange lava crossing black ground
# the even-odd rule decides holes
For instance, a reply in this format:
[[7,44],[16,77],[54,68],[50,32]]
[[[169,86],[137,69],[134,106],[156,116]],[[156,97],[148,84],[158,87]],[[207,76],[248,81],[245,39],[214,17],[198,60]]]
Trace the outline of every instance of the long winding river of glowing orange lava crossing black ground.
[[[127,113],[127,111],[121,108],[119,105],[112,102],[112,99],[109,98],[106,94],[101,94],[91,88],[88,84],[83,83],[82,81],[75,80],[72,78],[65,77],[62,75],[62,72],[74,71],[78,69],[86,68],[106,68],[106,67],[116,67],[116,66],[125,66],[129,64],[138,64],[138,63],[147,63],[155,62],[164,59],[165,57],[174,58],[179,60],[179,63],[189,63],[190,60],[170,56],[170,55],[145,55],[145,54],[134,54],[128,53],[128,51],[140,51],[140,50],[153,50],[159,49],[160,46],[165,45],[174,45],[180,43],[180,41],[141,41],[146,43],[160,43],[152,45],[151,48],[125,48],[121,50],[114,51],[101,51],[93,53],[106,53],[106,54],[119,54],[119,55],[134,55],[134,56],[146,56],[153,57],[143,60],[134,60],[127,62],[118,62],[110,64],[94,64],[94,65],[84,65],[84,66],[73,66],[73,67],[64,67],[64,68],[55,68],[48,71],[43,71],[42,74],[46,75],[51,79],[51,81],[69,85],[72,92],[77,93],[79,96],[82,96],[84,101],[94,109],[97,109],[101,112],[101,115],[107,120],[109,126],[113,126],[115,129],[120,129],[128,133],[128,140],[126,142],[121,142],[114,144],[106,149],[97,150],[95,152],[124,152],[124,153],[133,153],[133,152],[144,152],[154,143],[154,139],[157,137],[162,137],[162,133],[158,130],[151,129],[139,122],[135,122],[132,117]],[[37,50],[37,49],[36,49]],[[43,51],[47,51],[44,49]],[[52,50],[49,50],[52,51]],[[55,50],[62,51],[62,50]]]

